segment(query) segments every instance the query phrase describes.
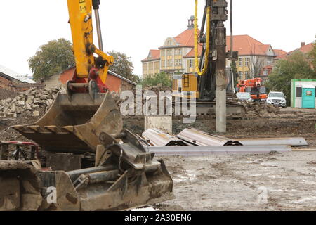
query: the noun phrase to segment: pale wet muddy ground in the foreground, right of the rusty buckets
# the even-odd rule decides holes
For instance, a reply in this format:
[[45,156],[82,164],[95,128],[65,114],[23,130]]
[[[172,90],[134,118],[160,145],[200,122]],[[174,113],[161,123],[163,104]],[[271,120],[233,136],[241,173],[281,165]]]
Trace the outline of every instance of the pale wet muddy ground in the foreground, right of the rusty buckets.
[[164,162],[175,198],[155,206],[159,210],[316,210],[316,152]]

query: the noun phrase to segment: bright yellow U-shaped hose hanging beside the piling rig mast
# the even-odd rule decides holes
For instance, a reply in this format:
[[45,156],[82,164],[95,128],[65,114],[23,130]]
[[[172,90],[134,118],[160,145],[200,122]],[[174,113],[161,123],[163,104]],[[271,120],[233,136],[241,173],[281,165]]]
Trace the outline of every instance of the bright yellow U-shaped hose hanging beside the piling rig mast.
[[211,34],[211,6],[207,6],[206,8],[206,52],[205,52],[205,62],[202,71],[199,69],[199,53],[198,53],[198,25],[197,25],[197,7],[198,0],[195,0],[195,71],[197,75],[202,76],[206,73],[208,65],[209,65],[209,42],[210,42],[210,34]]

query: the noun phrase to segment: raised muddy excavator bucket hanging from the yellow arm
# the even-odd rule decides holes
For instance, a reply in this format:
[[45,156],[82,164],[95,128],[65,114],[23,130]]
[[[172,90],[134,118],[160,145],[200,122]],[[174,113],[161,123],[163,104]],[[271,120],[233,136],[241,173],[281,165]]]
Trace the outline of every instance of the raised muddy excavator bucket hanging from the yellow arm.
[[95,152],[101,132],[118,135],[123,120],[110,94],[58,94],[48,112],[35,124],[13,126],[43,150],[53,153]]

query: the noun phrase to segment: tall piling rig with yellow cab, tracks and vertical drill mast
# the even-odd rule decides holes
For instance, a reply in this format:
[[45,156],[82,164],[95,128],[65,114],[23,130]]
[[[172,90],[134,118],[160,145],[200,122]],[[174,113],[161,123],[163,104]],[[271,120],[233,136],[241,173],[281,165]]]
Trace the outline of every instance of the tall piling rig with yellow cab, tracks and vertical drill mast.
[[[226,132],[226,115],[243,117],[244,105],[227,101],[235,94],[235,81],[231,68],[226,68],[226,58],[238,59],[232,51],[232,0],[230,2],[231,38],[230,51],[226,52],[226,28],[228,2],[206,0],[202,28],[197,27],[197,0],[195,0],[195,72],[173,76],[173,96],[196,98],[197,115],[216,114],[216,131]],[[204,32],[206,27],[206,32]],[[198,46],[202,46],[198,56]],[[179,104],[176,101],[173,105]]]

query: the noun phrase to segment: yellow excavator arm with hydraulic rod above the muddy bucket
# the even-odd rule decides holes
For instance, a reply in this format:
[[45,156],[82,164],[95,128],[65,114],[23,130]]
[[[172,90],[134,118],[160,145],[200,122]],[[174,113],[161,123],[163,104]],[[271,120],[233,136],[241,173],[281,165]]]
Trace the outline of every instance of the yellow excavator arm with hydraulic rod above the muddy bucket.
[[[103,92],[107,70],[114,63],[114,58],[103,52],[98,15],[100,0],[67,0],[67,3],[77,68],[73,82],[85,83],[86,79],[95,80],[99,91]],[[93,10],[96,13],[99,49],[93,44]],[[94,54],[99,57],[95,58]]]

